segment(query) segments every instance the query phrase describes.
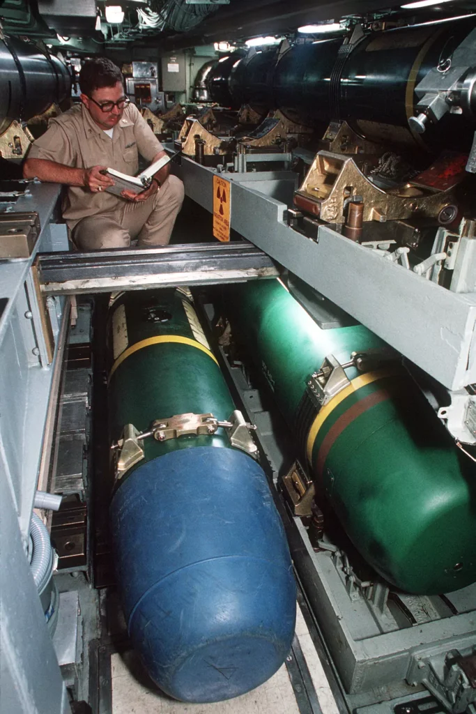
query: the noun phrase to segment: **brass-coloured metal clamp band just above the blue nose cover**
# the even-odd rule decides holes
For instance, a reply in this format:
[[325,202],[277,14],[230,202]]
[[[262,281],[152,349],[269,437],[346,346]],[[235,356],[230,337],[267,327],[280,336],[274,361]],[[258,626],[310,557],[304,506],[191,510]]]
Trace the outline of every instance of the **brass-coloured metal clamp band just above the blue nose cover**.
[[168,441],[181,436],[212,436],[219,428],[226,429],[231,446],[245,451],[253,458],[258,457],[258,446],[250,434],[256,427],[246,423],[240,411],[233,411],[228,421],[218,421],[211,413],[176,414],[166,419],[156,419],[148,431],[139,432],[133,424],[124,426],[121,438],[111,446],[112,451],[118,452],[116,479],[122,478],[129,468],[144,458],[139,442],[146,438],[152,436],[156,441]]

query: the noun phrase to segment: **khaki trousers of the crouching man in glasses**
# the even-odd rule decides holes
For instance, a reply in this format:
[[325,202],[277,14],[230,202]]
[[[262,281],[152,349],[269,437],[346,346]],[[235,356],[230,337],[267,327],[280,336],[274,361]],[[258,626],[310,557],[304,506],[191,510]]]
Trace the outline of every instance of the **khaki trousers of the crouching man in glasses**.
[[136,239],[139,248],[166,246],[182,203],[183,183],[176,176],[168,176],[147,201],[124,201],[111,213],[81,218],[71,235],[80,251],[128,248]]

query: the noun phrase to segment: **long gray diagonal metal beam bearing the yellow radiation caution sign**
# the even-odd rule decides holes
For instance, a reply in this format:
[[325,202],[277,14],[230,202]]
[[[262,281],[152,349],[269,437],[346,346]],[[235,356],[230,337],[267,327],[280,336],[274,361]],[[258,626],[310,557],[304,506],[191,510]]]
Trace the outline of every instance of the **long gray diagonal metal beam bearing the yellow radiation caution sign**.
[[[183,157],[174,171],[186,195],[211,211],[216,169]],[[290,172],[220,175],[231,181],[231,227],[243,238],[445,387],[476,382],[476,293],[448,291],[327,226],[320,227],[318,241],[293,230],[285,222],[295,176]]]

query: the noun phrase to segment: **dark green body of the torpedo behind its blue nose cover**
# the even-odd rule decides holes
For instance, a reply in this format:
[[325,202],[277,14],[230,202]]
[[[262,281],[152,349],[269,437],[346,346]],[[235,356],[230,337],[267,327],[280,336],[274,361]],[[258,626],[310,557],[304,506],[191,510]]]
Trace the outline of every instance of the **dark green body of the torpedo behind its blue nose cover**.
[[[178,336],[196,343],[184,302],[193,319],[191,303],[175,290],[130,292],[118,298],[111,307],[109,319],[109,372],[115,361],[114,339],[117,360],[121,358],[121,347],[129,350],[136,343],[159,336]],[[197,332],[198,321],[194,328]],[[213,413],[219,420],[226,420],[235,408],[216,361],[196,345],[180,342],[150,344],[129,354],[109,380],[108,405],[111,441],[120,438],[123,426],[128,423],[139,431],[146,431],[154,420],[176,414]],[[223,430],[214,436],[143,441],[146,461],[194,446],[228,447],[230,444]]]

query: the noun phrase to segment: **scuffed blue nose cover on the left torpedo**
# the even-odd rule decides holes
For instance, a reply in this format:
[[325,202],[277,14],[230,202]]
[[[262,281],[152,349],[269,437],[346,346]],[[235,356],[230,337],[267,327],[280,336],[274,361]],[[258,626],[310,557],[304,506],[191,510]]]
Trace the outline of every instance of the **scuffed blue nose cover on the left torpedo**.
[[263,470],[197,447],[138,468],[111,505],[128,630],[176,699],[215,702],[262,684],[295,628],[295,583]]

